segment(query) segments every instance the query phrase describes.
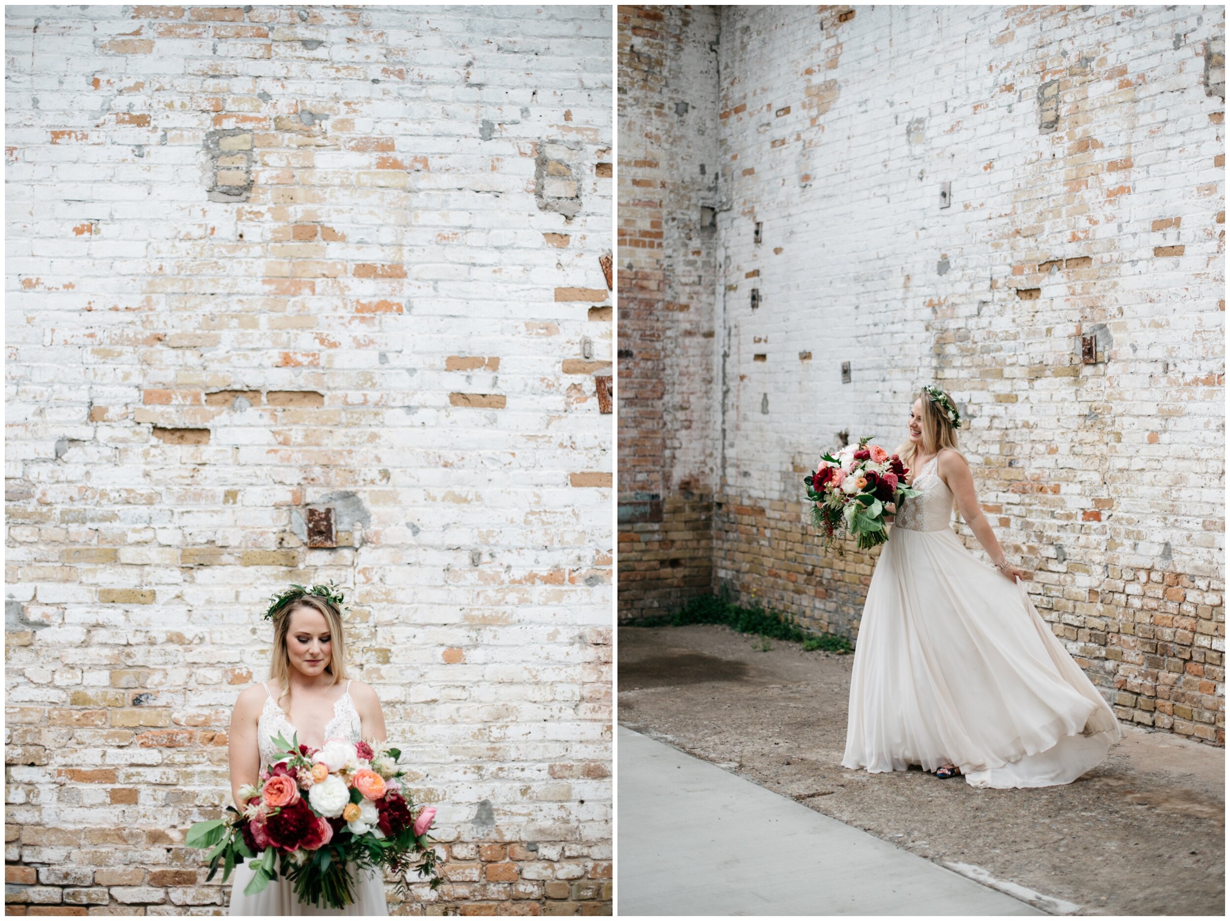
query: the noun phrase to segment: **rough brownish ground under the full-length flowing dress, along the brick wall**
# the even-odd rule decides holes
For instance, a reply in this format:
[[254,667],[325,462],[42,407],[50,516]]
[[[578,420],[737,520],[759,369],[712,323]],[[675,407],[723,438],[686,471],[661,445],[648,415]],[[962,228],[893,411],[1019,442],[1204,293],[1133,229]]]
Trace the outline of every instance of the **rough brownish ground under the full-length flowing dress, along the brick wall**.
[[[1039,789],[870,775],[840,765],[851,655],[781,641],[764,652],[756,637],[704,625],[620,627],[616,642],[620,725],[806,809],[989,885],[1042,893],[1052,901],[1034,905],[1048,912],[1224,914],[1221,748],[1129,728],[1102,765]],[[619,770],[622,787],[622,751]],[[621,842],[632,840],[626,802],[621,789]],[[617,876],[627,893],[627,868]]]

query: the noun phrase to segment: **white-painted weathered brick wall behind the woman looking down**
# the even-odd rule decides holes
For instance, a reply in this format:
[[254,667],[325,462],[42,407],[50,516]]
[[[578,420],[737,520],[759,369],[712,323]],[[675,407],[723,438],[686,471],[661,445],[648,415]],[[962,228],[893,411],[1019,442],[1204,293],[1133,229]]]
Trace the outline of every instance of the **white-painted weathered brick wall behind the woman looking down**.
[[[438,901],[609,911],[610,10],[303,14],[6,11],[16,904],[220,910],[173,845],[229,799],[264,599],[332,578],[453,841]],[[208,194],[214,130],[247,200]],[[330,497],[359,519],[308,548]]]

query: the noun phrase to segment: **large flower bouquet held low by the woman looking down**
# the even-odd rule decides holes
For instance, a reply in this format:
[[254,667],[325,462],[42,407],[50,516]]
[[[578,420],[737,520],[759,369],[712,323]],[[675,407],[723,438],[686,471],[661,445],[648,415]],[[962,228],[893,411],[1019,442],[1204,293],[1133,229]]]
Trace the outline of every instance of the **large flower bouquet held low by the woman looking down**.
[[386,743],[328,739],[322,749],[274,738],[285,756],[261,771],[260,782],[240,787],[244,812],[226,807],[221,819],[198,821],[188,831],[188,847],[210,847],[209,879],[224,862],[223,882],[236,863],[252,861],[256,874],[244,890],[264,889],[273,877],[290,879],[300,903],[332,909],[354,901],[354,880],[347,864],[359,871],[390,867],[399,887],[418,869],[440,884],[435,852],[427,831],[435,809],[419,810],[401,788],[399,749]]

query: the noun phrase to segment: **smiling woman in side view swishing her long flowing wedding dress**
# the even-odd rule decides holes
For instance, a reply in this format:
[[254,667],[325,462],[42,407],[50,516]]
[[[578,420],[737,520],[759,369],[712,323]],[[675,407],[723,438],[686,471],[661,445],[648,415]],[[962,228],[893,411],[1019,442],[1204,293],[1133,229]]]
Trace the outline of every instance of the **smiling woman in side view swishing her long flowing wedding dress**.
[[[920,765],[974,787],[1070,783],[1123,730],[1004,558],[959,425],[948,396],[925,387],[898,449],[920,494],[898,510],[867,588],[841,765]],[[954,500],[994,568],[952,530]]]

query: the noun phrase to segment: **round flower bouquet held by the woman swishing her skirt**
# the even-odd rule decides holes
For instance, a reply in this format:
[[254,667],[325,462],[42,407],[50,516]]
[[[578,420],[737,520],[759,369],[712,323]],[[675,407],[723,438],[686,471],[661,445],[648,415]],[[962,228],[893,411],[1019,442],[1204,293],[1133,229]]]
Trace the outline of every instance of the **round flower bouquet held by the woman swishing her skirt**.
[[[884,529],[884,504],[900,503],[918,496],[905,484],[908,472],[902,459],[889,455],[879,445],[868,445],[871,437],[860,438],[859,445],[846,445],[834,457],[825,454],[807,483],[807,498],[814,503],[812,520],[824,530],[824,548],[838,541],[839,531],[854,534],[859,550],[870,550],[888,540]],[[840,545],[838,555],[844,556]]]

